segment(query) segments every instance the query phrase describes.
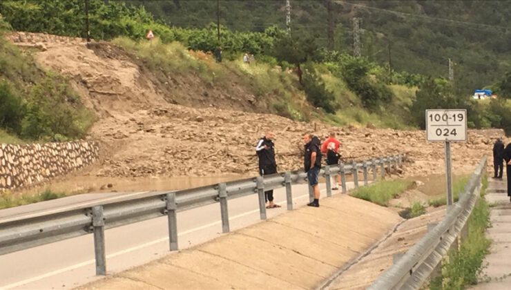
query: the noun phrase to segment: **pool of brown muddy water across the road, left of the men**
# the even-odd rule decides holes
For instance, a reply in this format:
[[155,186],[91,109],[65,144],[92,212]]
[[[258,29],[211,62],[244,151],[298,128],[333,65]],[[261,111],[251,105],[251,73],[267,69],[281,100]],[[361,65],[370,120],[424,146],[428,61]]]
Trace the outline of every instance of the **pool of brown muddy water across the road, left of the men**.
[[248,175],[219,175],[210,177],[95,177],[95,176],[75,176],[68,177],[65,180],[56,180],[19,191],[19,194],[36,194],[50,189],[55,192],[68,194],[77,193],[108,193],[122,191],[166,191],[190,189],[209,184],[218,184],[220,182],[229,182],[250,177]]

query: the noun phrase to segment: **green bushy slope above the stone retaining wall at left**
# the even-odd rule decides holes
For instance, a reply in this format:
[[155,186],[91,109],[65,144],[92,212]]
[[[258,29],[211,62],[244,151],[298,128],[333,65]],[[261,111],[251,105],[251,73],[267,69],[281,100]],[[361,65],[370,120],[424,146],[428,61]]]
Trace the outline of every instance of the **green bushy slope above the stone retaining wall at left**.
[[93,119],[64,77],[44,72],[0,35],[0,142],[81,138]]

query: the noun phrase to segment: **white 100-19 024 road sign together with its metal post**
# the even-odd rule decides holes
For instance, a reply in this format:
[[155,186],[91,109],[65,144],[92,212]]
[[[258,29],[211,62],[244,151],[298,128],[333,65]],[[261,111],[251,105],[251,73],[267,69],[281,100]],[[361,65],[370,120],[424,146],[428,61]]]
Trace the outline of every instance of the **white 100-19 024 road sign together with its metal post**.
[[428,142],[445,142],[445,180],[447,181],[447,209],[449,209],[454,203],[451,142],[467,141],[467,110],[426,110],[426,139]]

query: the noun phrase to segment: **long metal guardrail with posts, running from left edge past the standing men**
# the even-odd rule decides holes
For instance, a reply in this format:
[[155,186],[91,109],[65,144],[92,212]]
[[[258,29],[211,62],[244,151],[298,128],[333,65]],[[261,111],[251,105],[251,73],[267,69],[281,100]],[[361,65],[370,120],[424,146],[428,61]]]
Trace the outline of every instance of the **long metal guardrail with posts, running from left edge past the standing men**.
[[[342,191],[347,193],[346,175],[351,174],[355,186],[358,187],[358,172],[363,172],[364,184],[369,183],[369,170],[373,180],[380,174],[385,176],[402,164],[404,155],[393,155],[383,158],[373,158],[364,162],[338,164],[321,168],[320,174],[325,177],[327,196],[331,196],[332,175],[340,174]],[[185,211],[199,206],[220,203],[222,214],[222,231],[229,232],[228,200],[257,193],[259,196],[260,218],[265,220],[266,207],[264,191],[285,187],[287,209],[293,209],[291,185],[307,181],[307,173],[293,171],[277,173],[264,177],[235,180],[195,189],[182,191],[155,191],[131,197],[116,202],[90,202],[71,209],[52,211],[51,213],[29,213],[12,218],[0,219],[0,255],[37,247],[51,242],[93,233],[95,246],[96,274],[106,274],[106,253],[104,230],[123,226],[151,218],[168,216],[168,235],[171,251],[178,249],[177,245],[177,211]],[[309,186],[309,198],[314,200],[314,193]]]

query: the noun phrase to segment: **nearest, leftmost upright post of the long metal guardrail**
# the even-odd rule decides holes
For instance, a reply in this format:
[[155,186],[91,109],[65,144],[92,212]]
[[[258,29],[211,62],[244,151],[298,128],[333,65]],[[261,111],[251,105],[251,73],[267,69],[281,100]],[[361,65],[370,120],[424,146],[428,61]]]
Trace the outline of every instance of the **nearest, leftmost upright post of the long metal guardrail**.
[[103,217],[103,206],[93,207],[93,230],[96,275],[106,275],[105,220]]

